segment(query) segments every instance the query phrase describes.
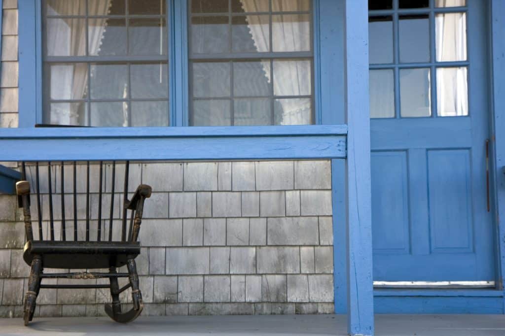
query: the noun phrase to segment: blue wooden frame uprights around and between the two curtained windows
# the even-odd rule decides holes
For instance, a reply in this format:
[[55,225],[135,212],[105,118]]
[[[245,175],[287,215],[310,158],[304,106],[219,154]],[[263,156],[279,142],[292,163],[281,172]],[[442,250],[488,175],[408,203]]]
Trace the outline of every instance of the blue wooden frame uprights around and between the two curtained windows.
[[[170,126],[184,127],[189,124],[188,2],[166,1],[169,17]],[[313,0],[312,3],[313,123],[343,124],[343,23],[334,19],[343,6],[331,0]],[[32,128],[43,122],[46,90],[42,80],[42,13],[41,2],[19,3],[19,20],[26,23],[19,27],[19,87],[22,97],[19,103],[19,127],[23,128]]]

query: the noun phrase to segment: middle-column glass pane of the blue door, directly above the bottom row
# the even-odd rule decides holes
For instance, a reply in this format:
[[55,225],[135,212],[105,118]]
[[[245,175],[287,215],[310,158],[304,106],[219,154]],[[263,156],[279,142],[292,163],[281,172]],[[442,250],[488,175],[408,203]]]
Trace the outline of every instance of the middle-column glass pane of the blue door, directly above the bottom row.
[[399,19],[400,62],[429,62],[429,16],[409,15],[400,16]]

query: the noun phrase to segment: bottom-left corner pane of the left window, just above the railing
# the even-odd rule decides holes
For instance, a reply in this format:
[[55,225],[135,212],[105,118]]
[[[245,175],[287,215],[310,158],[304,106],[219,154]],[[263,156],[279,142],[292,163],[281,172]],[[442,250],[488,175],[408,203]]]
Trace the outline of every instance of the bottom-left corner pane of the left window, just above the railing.
[[85,102],[52,103],[49,114],[44,113],[44,123],[52,125],[87,126],[87,104]]

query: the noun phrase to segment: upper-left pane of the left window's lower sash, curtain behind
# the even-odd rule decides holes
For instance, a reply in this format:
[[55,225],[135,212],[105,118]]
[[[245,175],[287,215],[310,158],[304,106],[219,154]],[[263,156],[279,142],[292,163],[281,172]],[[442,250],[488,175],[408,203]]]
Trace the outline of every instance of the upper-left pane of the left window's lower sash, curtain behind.
[[46,67],[49,76],[49,97],[58,100],[84,99],[87,93],[86,63],[52,64]]

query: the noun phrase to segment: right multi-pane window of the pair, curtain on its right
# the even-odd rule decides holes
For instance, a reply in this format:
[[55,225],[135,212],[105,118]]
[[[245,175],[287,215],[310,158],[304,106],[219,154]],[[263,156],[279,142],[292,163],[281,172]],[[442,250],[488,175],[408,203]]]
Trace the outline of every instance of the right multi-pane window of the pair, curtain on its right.
[[313,118],[310,0],[190,0],[191,126]]

